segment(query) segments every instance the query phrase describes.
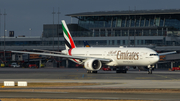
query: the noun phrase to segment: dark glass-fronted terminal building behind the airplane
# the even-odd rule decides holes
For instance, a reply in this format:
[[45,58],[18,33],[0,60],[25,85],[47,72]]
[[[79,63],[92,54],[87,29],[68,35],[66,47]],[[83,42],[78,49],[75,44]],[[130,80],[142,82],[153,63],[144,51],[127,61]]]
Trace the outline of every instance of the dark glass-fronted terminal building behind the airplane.
[[[157,52],[180,50],[180,9],[104,11],[67,14],[78,19],[68,24],[76,46],[83,41],[93,47],[149,47]],[[1,38],[3,50],[4,39]],[[40,37],[6,37],[6,50],[62,50],[61,24],[44,24]],[[179,66],[180,55],[169,55],[159,67]]]

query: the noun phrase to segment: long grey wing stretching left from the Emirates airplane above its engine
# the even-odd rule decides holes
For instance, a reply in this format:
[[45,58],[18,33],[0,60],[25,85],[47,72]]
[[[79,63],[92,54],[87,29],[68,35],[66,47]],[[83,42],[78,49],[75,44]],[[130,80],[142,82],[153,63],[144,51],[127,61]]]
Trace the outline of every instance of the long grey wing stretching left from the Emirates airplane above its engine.
[[24,54],[38,54],[38,55],[46,55],[46,56],[56,56],[56,57],[69,58],[69,59],[79,59],[79,60],[86,60],[89,58],[95,58],[95,59],[100,60],[102,62],[111,62],[112,61],[112,59],[105,59],[105,58],[71,56],[71,55],[40,53],[40,52],[25,52],[25,51],[11,51],[11,52],[13,52],[13,53],[24,53]]

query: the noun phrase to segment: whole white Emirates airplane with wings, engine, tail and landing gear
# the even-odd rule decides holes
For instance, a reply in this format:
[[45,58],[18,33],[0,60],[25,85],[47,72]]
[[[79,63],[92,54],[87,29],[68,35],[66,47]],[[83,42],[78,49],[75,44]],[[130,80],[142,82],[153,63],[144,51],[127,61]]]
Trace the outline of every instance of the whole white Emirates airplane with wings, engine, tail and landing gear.
[[57,56],[68,58],[77,64],[82,64],[87,73],[97,73],[102,66],[117,67],[116,73],[126,73],[126,66],[147,66],[148,74],[152,74],[154,64],[159,61],[160,55],[173,54],[173,52],[158,54],[150,48],[136,47],[76,47],[69,29],[62,20],[63,35],[65,39],[65,50],[61,54],[12,51],[14,53],[39,54],[46,56]]

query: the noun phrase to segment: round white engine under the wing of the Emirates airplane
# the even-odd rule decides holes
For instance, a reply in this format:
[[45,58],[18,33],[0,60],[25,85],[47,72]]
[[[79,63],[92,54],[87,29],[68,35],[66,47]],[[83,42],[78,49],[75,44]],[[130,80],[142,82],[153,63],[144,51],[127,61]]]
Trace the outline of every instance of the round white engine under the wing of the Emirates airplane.
[[84,67],[87,70],[91,70],[91,71],[97,71],[101,68],[102,63],[99,60],[96,59],[88,59],[85,63],[84,63]]

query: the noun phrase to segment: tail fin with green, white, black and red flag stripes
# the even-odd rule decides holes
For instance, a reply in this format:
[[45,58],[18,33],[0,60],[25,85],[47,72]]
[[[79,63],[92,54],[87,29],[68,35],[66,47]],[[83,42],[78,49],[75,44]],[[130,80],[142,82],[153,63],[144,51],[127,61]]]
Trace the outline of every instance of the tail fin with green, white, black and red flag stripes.
[[76,47],[75,43],[72,39],[72,36],[71,36],[69,29],[66,25],[66,22],[64,20],[62,20],[62,28],[63,28],[63,35],[64,35],[66,49],[75,48]]

